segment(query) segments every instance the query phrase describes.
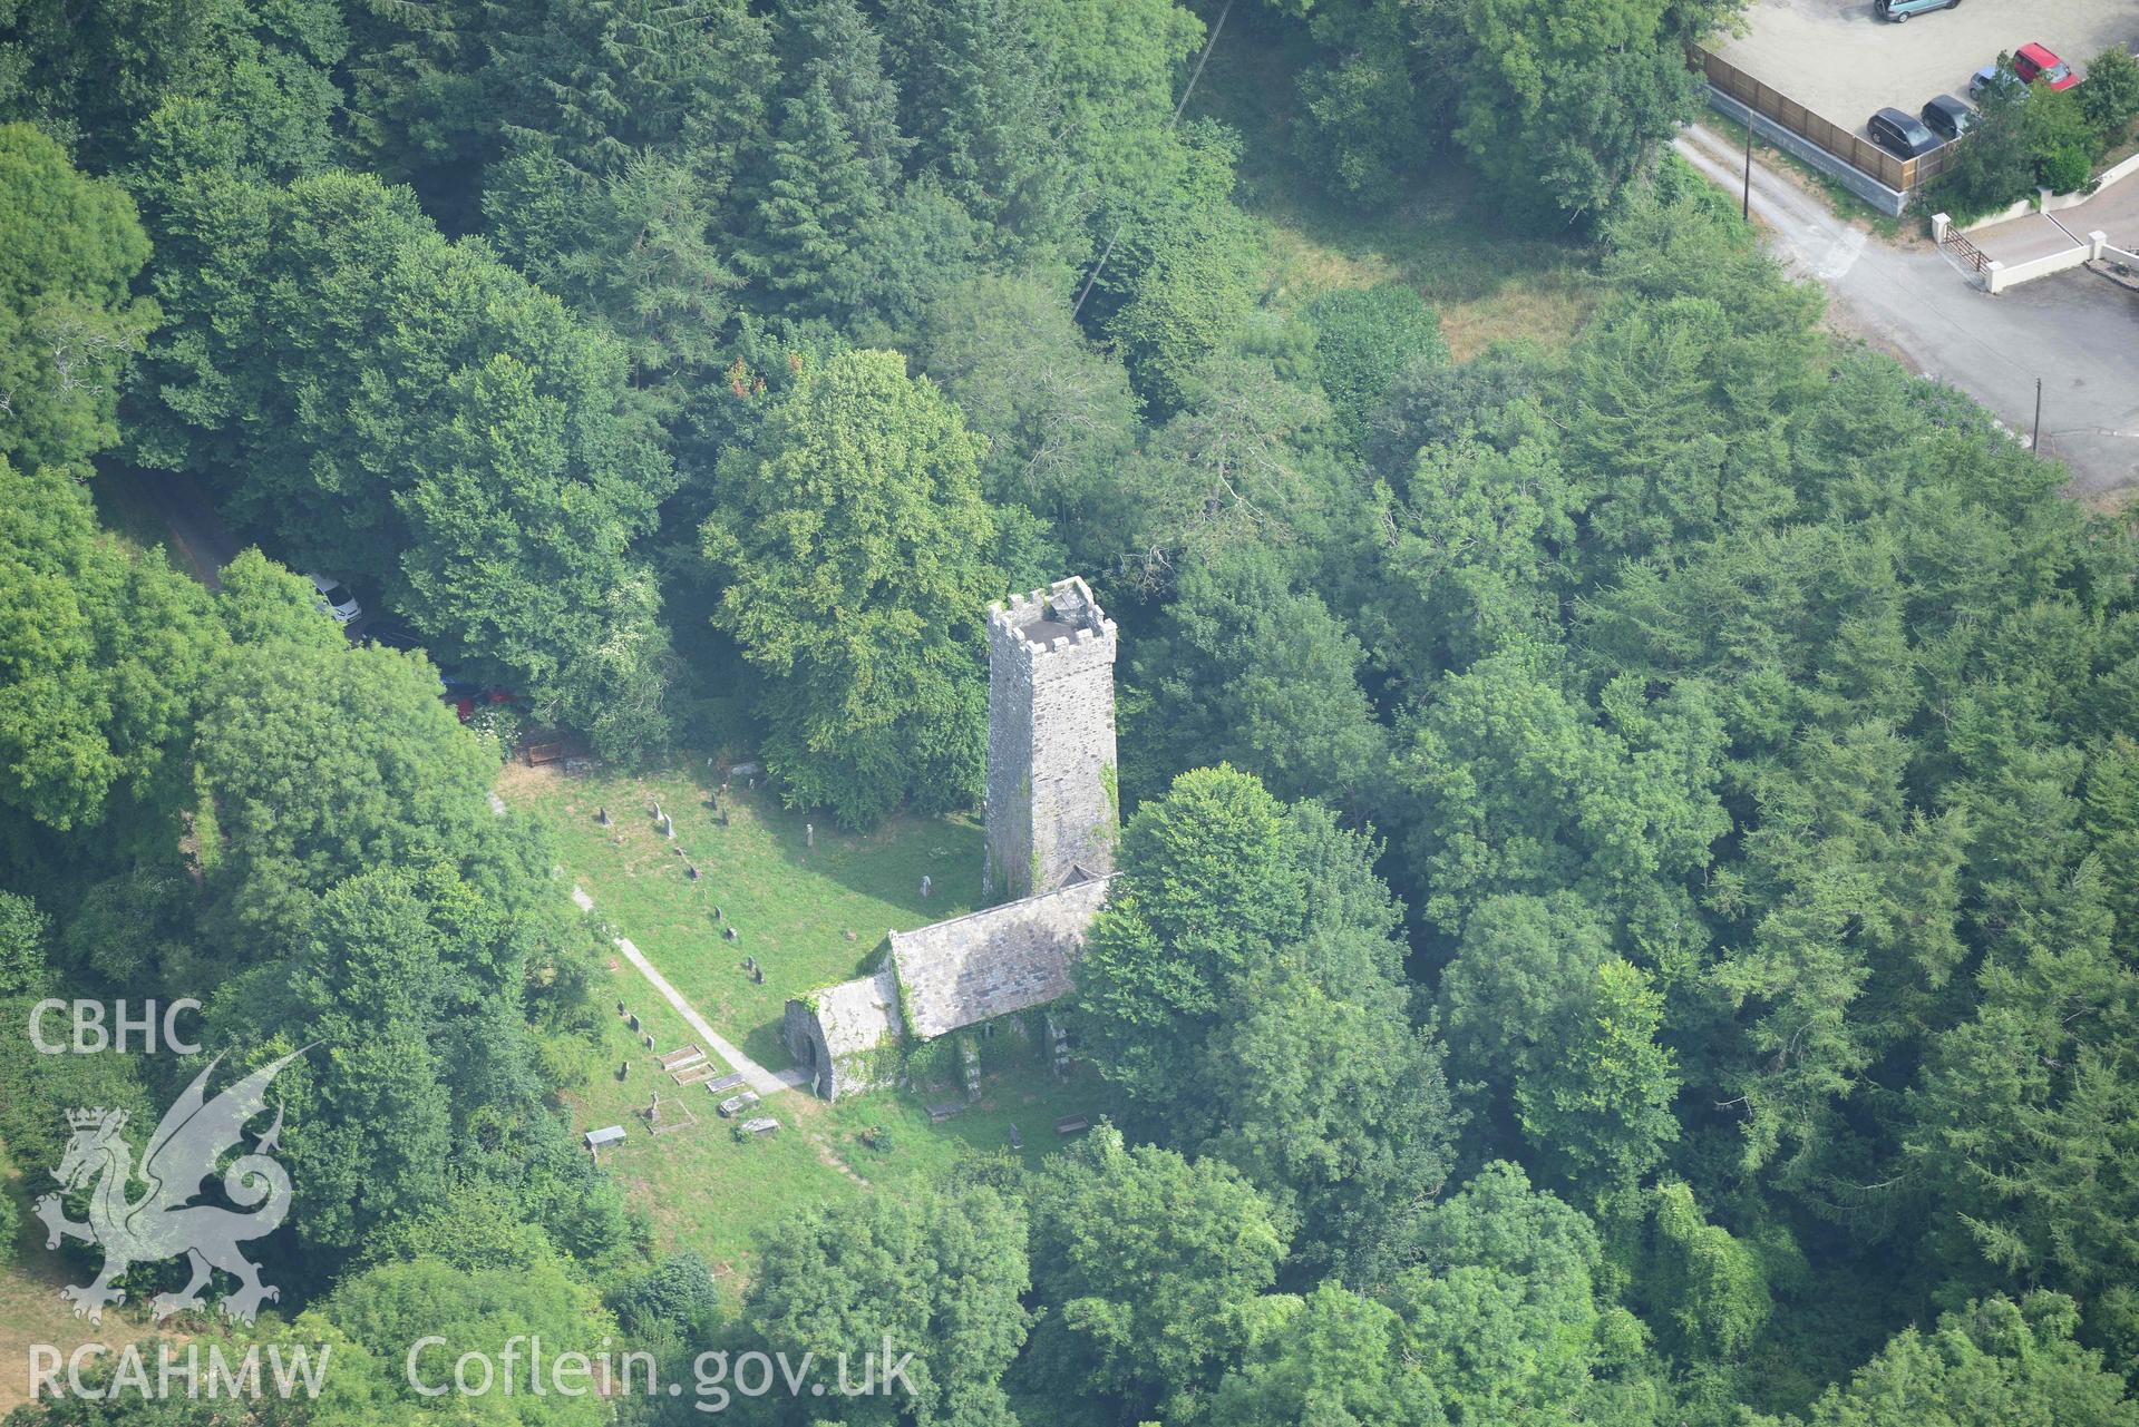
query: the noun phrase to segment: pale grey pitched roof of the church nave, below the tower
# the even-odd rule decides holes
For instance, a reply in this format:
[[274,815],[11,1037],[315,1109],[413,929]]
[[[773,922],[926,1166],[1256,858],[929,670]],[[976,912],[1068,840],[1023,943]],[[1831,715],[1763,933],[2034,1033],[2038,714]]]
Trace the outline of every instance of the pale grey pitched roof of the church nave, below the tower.
[[1067,995],[1070,963],[1106,904],[1110,880],[1072,882],[918,931],[892,931],[907,1032],[935,1040]]

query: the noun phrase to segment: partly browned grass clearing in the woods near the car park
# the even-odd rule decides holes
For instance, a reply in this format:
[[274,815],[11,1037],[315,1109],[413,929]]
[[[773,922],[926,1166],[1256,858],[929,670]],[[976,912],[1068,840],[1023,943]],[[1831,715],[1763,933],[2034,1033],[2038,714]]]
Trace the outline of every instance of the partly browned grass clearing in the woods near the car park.
[[1360,214],[1315,188],[1292,154],[1294,75],[1305,56],[1275,21],[1236,13],[1211,53],[1191,111],[1243,139],[1241,205],[1266,224],[1268,301],[1410,282],[1442,314],[1457,361],[1493,342],[1564,346],[1596,303],[1589,250],[1510,231],[1452,154],[1425,154],[1386,211]]

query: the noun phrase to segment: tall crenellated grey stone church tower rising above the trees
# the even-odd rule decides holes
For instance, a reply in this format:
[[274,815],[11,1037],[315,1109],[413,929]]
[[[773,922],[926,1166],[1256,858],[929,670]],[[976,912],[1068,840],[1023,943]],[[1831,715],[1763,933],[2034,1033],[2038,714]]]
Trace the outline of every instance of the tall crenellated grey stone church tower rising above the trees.
[[1078,579],[988,607],[988,895],[1114,869],[1114,622]]

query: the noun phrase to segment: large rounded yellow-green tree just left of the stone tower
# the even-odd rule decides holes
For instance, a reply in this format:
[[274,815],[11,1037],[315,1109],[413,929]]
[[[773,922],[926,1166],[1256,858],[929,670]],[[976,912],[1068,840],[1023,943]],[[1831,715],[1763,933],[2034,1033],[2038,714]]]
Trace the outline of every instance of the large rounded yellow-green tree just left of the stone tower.
[[714,624],[768,675],[764,748],[794,803],[868,825],[978,795],[997,592],[980,451],[898,352],[841,352],[721,461]]

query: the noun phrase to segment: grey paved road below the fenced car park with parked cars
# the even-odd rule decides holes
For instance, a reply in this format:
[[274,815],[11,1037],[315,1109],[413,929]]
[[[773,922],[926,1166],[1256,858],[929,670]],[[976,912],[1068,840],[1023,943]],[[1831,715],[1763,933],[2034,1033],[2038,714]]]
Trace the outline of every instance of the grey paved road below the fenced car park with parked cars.
[[[1739,192],[1743,158],[1728,139],[1694,124],[1675,147]],[[1831,327],[1951,382],[2021,434],[2041,376],[2043,449],[2071,466],[2068,493],[2139,487],[2139,295],[2088,271],[1979,293],[1932,244],[1876,239],[1758,156],[1752,211],[1790,271],[1827,286]]]

